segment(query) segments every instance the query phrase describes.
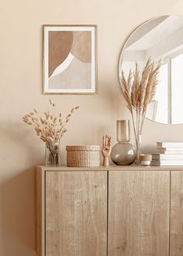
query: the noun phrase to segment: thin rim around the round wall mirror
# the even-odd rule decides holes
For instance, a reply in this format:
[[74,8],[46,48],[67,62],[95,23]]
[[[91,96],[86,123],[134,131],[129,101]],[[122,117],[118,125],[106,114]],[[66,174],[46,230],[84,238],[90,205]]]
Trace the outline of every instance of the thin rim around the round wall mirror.
[[[154,19],[160,19],[160,18],[167,18],[167,17],[170,17],[170,16],[173,16],[173,15],[164,15],[164,16],[157,16],[157,17],[154,17],[152,19],[147,19],[147,21],[145,22],[142,22],[139,26],[136,26],[136,28],[133,29],[133,31],[131,33],[129,33],[129,36],[127,36],[126,40],[125,40],[125,43],[123,43],[123,47],[122,47],[122,50],[121,50],[121,53],[119,55],[119,65],[118,65],[118,78],[119,78],[119,85],[121,85],[121,82],[120,82],[120,77],[121,77],[121,71],[122,71],[122,64],[123,64],[123,52],[124,50],[126,49],[126,44],[128,43],[128,40],[131,36],[133,36],[133,33],[136,32],[137,29],[140,29],[140,27],[144,26],[145,24],[147,24],[148,22],[151,22],[153,21]],[[180,15],[174,15],[174,16],[180,16]],[[183,18],[183,16],[180,16]],[[135,108],[133,107],[133,109],[135,110]],[[183,124],[183,121],[181,123],[161,123],[161,122],[157,122],[157,121],[154,121],[148,117],[146,117],[146,119],[150,120],[151,122],[153,123],[159,123],[161,125],[171,125],[171,126],[174,126],[174,125],[181,125]]]

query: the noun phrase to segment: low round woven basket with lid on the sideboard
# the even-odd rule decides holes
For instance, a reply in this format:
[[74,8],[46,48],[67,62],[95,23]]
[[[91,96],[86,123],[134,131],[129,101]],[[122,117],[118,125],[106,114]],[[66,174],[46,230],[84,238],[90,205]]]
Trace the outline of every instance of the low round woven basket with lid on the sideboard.
[[66,146],[67,166],[98,167],[100,166],[100,146]]

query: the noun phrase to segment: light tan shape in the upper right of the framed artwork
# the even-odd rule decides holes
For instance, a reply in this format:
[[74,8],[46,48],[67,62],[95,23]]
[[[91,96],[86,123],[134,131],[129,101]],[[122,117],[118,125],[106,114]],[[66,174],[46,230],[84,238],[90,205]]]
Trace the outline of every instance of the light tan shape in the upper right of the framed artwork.
[[82,62],[91,63],[91,32],[74,31],[71,54]]

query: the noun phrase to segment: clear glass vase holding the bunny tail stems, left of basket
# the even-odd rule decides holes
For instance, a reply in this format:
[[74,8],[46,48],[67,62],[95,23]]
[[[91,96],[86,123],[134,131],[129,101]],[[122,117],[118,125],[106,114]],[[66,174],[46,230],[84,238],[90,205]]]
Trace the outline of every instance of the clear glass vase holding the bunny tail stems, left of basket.
[[45,146],[45,164],[60,165],[60,143],[51,144],[49,147]]

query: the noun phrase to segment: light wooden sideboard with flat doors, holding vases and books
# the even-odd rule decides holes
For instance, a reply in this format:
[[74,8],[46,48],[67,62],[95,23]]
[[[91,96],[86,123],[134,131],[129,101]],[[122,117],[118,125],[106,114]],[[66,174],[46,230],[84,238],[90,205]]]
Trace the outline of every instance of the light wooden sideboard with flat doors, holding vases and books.
[[39,256],[182,256],[183,167],[36,171]]

